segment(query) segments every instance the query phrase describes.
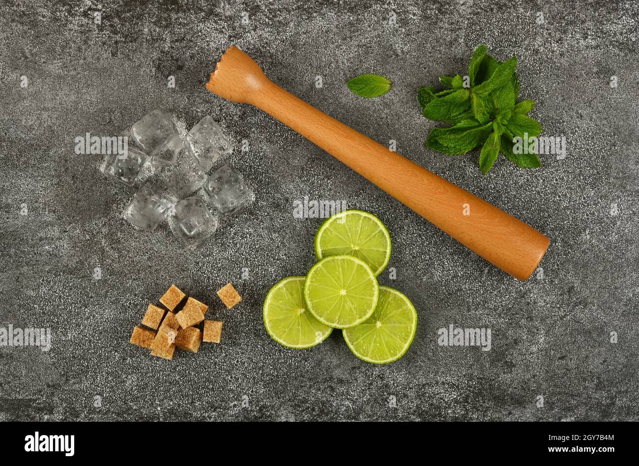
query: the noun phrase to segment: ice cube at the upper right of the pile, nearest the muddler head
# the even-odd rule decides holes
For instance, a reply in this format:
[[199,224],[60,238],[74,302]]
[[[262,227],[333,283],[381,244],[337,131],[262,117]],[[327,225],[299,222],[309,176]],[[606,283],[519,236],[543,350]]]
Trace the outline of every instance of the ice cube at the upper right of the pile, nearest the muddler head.
[[209,171],[220,155],[233,151],[231,141],[208,115],[191,128],[186,143],[204,171]]

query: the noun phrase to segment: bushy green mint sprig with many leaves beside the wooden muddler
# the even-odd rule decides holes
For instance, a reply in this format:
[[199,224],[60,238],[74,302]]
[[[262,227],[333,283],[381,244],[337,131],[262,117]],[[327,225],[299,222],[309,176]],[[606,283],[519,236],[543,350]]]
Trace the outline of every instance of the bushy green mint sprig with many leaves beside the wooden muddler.
[[[482,146],[479,168],[484,175],[500,152],[520,167],[541,167],[537,154],[513,151],[514,137],[541,134],[539,122],[527,115],[535,102],[517,102],[520,81],[516,66],[517,57],[502,63],[486,52],[486,45],[480,45],[470,58],[467,79],[442,75],[439,80],[445,89],[440,91],[420,86],[417,101],[422,114],[429,120],[452,125],[433,128],[426,146],[449,155],[461,155]],[[465,82],[466,86],[470,82],[470,87],[466,88]]]

